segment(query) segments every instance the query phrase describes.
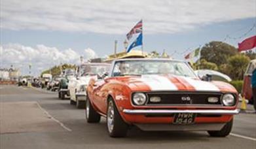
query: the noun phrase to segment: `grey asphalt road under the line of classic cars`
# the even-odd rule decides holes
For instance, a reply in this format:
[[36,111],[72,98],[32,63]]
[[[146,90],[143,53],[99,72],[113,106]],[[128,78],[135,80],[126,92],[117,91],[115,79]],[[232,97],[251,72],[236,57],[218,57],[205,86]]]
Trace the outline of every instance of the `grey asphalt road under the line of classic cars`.
[[113,139],[107,135],[104,118],[100,124],[87,124],[84,110],[58,99],[57,93],[3,85],[0,93],[1,149],[256,148],[256,114],[249,105],[248,113],[235,116],[232,133],[225,138],[209,137],[206,132],[145,132],[133,127],[126,138]]

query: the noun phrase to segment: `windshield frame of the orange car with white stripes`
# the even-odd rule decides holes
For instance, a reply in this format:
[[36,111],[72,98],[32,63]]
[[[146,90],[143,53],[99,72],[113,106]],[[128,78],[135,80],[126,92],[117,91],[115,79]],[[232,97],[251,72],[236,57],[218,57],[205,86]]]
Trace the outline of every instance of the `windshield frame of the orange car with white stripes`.
[[[120,74],[120,75],[116,75],[115,74],[115,69],[117,67],[118,63],[137,63],[137,65],[139,65],[139,63],[141,63],[141,66],[143,65],[143,63],[145,63],[145,65],[150,65],[149,63],[153,64],[153,63],[170,63],[169,65],[172,66],[174,65],[173,63],[175,63],[176,65],[183,65],[183,68],[185,68],[187,71],[187,74],[177,74],[177,73],[145,73],[145,71],[143,73],[130,73],[130,74]],[[143,67],[145,67],[145,65]],[[187,68],[186,68],[187,67]],[[177,68],[175,68],[174,71]],[[132,69],[134,70],[134,69]],[[183,70],[184,71],[184,70]],[[179,72],[181,73],[181,72]],[[184,73],[184,72],[183,72]],[[111,73],[109,73],[110,77],[117,77],[117,76],[141,76],[141,75],[147,75],[147,74],[171,74],[171,75],[177,75],[177,76],[185,76],[185,77],[191,77],[191,78],[198,78],[198,76],[194,73],[194,70],[191,68],[191,66],[185,62],[185,61],[177,61],[177,60],[170,60],[170,59],[120,59],[117,61],[113,61],[113,65],[111,68]]]

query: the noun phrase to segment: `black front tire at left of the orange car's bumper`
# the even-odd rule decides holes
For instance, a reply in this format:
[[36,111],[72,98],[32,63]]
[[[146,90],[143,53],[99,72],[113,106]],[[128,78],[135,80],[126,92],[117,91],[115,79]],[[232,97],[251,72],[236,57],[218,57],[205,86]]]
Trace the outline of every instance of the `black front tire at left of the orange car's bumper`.
[[[111,107],[113,106],[113,115],[111,114]],[[113,118],[113,128],[111,129],[109,125],[109,120]],[[115,105],[115,102],[112,98],[109,99],[107,104],[107,131],[109,132],[110,137],[126,137],[128,131],[128,125],[122,120],[122,117],[119,114],[119,110]]]

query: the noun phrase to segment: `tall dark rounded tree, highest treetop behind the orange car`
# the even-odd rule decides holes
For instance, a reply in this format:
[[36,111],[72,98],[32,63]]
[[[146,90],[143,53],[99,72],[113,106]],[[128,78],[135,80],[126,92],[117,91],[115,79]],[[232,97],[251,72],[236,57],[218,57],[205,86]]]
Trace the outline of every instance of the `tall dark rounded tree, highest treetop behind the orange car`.
[[211,41],[202,47],[201,59],[206,59],[206,61],[220,66],[227,63],[230,56],[234,56],[236,54],[238,54],[238,50],[234,48],[234,46],[225,42]]

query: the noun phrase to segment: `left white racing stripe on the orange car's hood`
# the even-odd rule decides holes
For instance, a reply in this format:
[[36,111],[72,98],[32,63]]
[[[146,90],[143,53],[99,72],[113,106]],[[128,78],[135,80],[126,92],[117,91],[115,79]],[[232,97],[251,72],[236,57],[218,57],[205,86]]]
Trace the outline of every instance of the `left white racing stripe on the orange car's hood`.
[[177,90],[175,84],[164,76],[143,75],[140,80],[147,84],[152,91]]

